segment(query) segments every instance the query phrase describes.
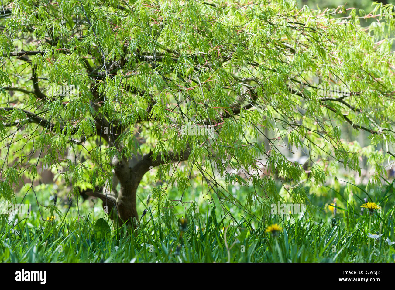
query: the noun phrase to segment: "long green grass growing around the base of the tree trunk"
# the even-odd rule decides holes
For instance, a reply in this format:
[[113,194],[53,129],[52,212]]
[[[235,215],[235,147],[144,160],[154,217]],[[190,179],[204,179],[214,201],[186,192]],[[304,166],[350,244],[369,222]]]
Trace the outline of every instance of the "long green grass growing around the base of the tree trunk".
[[[350,185],[352,186],[352,185]],[[232,222],[220,207],[207,204],[201,213],[186,211],[187,224],[166,220],[155,210],[141,219],[131,233],[116,229],[108,217],[85,202],[79,213],[41,221],[40,215],[15,216],[0,223],[1,262],[394,262],[395,241],[393,184],[364,193],[354,187],[329,190],[328,196],[309,196],[321,208],[303,216],[270,215],[263,223],[237,212]],[[239,192],[242,195],[242,192]],[[382,206],[381,211],[361,215],[363,195]],[[337,196],[337,214],[325,203]],[[352,198],[351,198],[352,197]],[[34,211],[36,213],[37,211]],[[51,213],[45,213],[52,216]],[[55,213],[56,216],[56,213]],[[44,216],[45,218],[45,216]],[[62,220],[64,220],[62,222]],[[275,236],[265,232],[278,223]],[[380,239],[367,234],[382,234]]]

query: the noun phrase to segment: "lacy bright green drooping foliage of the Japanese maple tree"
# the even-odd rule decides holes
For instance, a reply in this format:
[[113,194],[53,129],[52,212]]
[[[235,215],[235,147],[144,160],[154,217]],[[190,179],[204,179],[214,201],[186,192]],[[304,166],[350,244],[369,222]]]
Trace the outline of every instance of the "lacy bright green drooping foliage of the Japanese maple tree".
[[[392,6],[375,6],[378,21],[367,30],[357,9],[339,9],[344,17],[335,18],[293,1],[4,6],[2,196],[10,197],[19,179],[37,178],[39,164],[64,178],[72,193],[111,186],[114,159],[190,151],[188,166],[198,168],[211,194],[223,197],[217,173],[228,184],[251,182],[250,208],[264,195],[278,199],[273,179],[254,171],[257,161],[293,186],[307,178],[281,148],[308,152],[308,180],[317,186],[340,166],[360,170],[360,152],[376,173],[372,183],[393,160]],[[324,84],[348,94],[323,96]],[[182,134],[185,124],[213,135]],[[344,124],[370,133],[371,146],[342,139]],[[375,151],[378,144],[386,149]],[[255,173],[243,180],[228,168]],[[163,165],[158,175],[173,169]],[[189,178],[190,170],[178,170],[168,183],[183,191]],[[305,195],[299,187],[292,194]]]

